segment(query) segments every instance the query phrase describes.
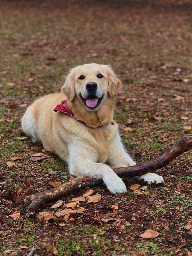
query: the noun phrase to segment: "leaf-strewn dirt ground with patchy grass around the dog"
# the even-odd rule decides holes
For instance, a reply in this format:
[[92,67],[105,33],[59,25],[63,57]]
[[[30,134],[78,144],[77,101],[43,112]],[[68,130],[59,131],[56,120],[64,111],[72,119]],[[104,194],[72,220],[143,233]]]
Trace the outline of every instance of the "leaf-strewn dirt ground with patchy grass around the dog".
[[[111,64],[123,82],[115,119],[137,162],[191,136],[191,13],[185,0],[0,2],[0,255],[192,255],[191,151],[159,170],[165,184],[147,193],[136,194],[138,182],[127,179],[123,195],[93,188],[101,199],[78,200],[83,214],[54,215],[90,188],[28,218],[26,195],[72,177],[20,124],[36,98],[60,91],[70,68],[96,62]],[[36,153],[49,158],[32,161]],[[158,236],[139,236],[147,229]]]

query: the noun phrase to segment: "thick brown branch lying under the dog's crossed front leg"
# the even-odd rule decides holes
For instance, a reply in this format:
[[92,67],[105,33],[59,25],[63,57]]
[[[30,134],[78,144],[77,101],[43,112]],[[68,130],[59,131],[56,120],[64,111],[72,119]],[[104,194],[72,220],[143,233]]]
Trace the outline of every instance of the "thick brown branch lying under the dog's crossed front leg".
[[[172,147],[168,148],[161,156],[145,164],[136,164],[130,167],[113,168],[119,177],[134,177],[143,175],[147,172],[155,172],[158,169],[169,164],[173,159],[192,148],[192,137],[181,139]],[[74,191],[86,186],[98,185],[101,180],[93,180],[90,177],[74,178],[68,183],[59,187],[40,192],[34,195],[26,196],[24,201],[29,204],[26,212],[33,215],[43,204],[54,201],[62,196],[68,195]]]

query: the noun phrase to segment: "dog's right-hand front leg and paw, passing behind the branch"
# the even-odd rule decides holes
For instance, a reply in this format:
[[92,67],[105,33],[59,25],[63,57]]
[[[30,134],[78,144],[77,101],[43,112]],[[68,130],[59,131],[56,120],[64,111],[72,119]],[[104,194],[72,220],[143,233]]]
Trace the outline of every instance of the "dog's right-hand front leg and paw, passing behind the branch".
[[[112,167],[124,167],[124,166],[132,166],[136,163],[132,160],[129,154],[124,150],[123,144],[121,142],[121,138],[118,135],[110,148],[108,163]],[[148,172],[141,176],[134,177],[137,180],[144,180],[148,184],[151,183],[164,183],[164,179],[162,176]]]

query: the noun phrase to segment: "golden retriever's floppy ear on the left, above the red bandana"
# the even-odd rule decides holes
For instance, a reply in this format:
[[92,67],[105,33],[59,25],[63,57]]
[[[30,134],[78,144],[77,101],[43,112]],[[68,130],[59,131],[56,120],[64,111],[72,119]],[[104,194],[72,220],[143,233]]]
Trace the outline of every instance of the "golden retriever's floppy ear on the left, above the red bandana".
[[75,77],[73,69],[69,72],[65,84],[61,88],[61,92],[63,92],[69,100],[73,100],[75,97]]

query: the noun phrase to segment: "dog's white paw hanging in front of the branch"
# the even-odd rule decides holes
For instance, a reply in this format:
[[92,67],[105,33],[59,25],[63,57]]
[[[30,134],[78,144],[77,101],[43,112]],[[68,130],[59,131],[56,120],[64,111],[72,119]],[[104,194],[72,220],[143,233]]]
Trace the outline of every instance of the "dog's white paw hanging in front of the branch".
[[123,180],[114,174],[111,175],[111,177],[108,177],[107,175],[103,177],[103,181],[106,184],[108,190],[111,192],[111,194],[121,194],[126,192],[127,188]]

